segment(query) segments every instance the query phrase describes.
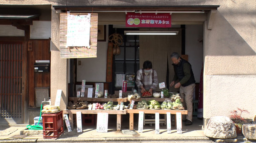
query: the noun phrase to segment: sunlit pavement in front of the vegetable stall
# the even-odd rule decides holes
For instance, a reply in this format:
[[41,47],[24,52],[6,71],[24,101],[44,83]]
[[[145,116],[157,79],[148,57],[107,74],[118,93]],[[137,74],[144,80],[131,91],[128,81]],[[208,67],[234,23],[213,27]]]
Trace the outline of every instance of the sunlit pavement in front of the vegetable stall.
[[[126,116],[123,116],[127,118]],[[77,133],[76,129],[72,132],[65,132],[58,139],[44,139],[43,135],[20,135],[20,131],[26,129],[25,126],[0,126],[0,143],[65,143],[65,142],[87,142],[87,143],[214,143],[204,136],[202,129],[203,121],[194,119],[190,126],[182,126],[182,134],[177,134],[175,126],[172,126],[172,133],[167,133],[166,125],[160,126],[160,134],[155,134],[154,125],[146,124],[143,127],[143,133],[138,133],[137,123],[134,121],[134,135],[124,134],[122,131],[128,131],[128,122],[123,122],[122,131],[116,131],[116,121],[108,123],[108,132],[96,132],[96,125],[84,126],[82,133]],[[65,125],[64,125],[65,126]],[[7,135],[8,134],[8,135]],[[242,143],[243,137],[239,138],[237,143]]]

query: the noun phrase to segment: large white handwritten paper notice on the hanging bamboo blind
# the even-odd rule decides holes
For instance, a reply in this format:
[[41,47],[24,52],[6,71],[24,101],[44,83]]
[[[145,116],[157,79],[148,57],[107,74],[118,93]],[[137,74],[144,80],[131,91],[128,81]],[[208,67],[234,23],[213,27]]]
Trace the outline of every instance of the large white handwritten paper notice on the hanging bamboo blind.
[[67,15],[67,47],[89,47],[90,14]]

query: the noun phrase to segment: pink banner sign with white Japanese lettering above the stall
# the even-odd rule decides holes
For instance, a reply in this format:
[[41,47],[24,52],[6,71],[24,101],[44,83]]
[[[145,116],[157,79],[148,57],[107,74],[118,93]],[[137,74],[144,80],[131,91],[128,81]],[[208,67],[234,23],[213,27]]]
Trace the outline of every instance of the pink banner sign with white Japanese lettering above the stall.
[[169,28],[171,24],[171,15],[169,13],[132,13],[126,14],[126,27],[160,27]]

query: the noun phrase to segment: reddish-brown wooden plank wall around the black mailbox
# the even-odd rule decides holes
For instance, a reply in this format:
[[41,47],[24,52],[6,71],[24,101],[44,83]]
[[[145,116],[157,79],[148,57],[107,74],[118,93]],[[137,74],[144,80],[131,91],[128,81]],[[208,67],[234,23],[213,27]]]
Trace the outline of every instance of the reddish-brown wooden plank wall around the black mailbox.
[[29,107],[35,107],[35,88],[48,87],[50,89],[50,72],[41,73],[34,70],[35,60],[51,59],[50,39],[29,40],[29,46],[27,51]]

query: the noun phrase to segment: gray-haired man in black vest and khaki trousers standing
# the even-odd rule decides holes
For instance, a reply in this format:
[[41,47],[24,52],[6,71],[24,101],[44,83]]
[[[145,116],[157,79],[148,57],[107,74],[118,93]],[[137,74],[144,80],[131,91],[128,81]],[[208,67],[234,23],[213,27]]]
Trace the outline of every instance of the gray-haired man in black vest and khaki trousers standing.
[[[172,53],[171,59],[174,67],[174,78],[170,84],[172,87],[175,81],[178,82],[174,85],[175,88],[180,88],[180,96],[183,98],[183,106],[188,110],[186,115],[185,125],[192,125],[192,112],[193,112],[193,93],[195,90],[195,78],[191,68],[191,64],[182,59],[176,52]],[[185,104],[184,104],[185,103]]]

